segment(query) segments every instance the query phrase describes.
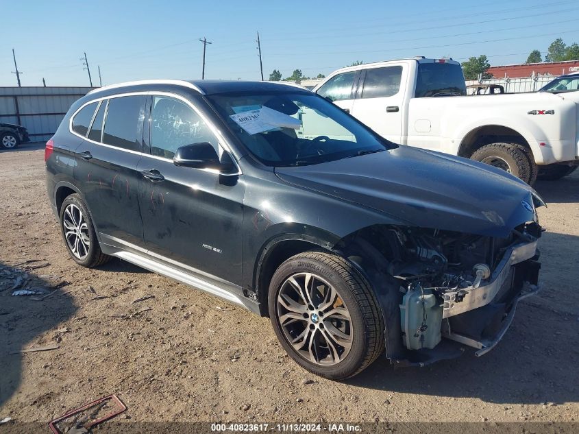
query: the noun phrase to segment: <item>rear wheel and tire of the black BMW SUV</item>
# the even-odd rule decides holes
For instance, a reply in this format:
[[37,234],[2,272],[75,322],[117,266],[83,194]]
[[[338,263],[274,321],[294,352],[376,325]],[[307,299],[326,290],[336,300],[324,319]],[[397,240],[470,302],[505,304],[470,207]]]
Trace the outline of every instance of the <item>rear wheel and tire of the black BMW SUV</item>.
[[101,251],[86,204],[76,193],[62,202],[60,233],[66,250],[77,264],[93,268],[110,261],[110,256]]

